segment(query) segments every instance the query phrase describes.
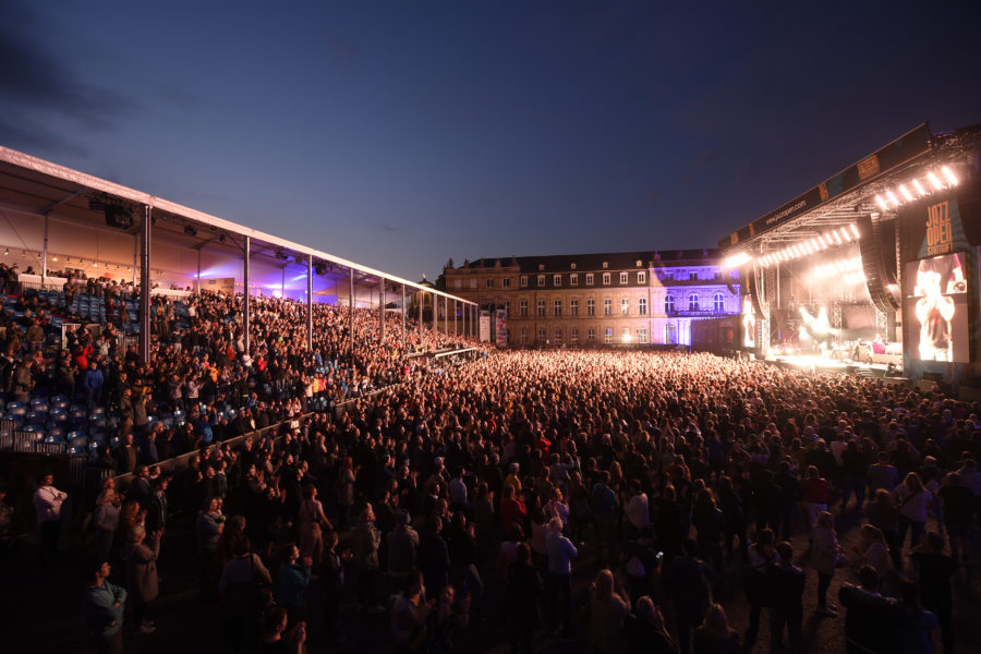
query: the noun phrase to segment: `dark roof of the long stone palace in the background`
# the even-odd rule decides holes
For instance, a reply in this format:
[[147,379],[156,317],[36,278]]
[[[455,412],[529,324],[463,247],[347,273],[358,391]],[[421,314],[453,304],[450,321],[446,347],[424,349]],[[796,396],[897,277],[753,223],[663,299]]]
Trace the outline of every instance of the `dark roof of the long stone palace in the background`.
[[[634,252],[601,252],[593,254],[558,254],[543,256],[510,256],[499,258],[483,257],[474,262],[463,262],[453,270],[494,269],[518,267],[521,272],[566,272],[572,270],[634,270],[649,266],[658,268],[668,265],[708,265],[718,258],[718,250],[665,250]],[[638,266],[638,262],[640,265]],[[606,267],[603,264],[606,263]],[[538,269],[544,266],[543,269]]]

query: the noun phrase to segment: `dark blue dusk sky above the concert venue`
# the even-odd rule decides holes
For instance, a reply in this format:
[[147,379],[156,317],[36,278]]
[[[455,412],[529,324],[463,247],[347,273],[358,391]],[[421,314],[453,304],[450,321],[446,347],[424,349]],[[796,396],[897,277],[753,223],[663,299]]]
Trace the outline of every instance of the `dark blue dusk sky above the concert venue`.
[[713,246],[920,122],[977,2],[0,0],[0,144],[419,279]]

